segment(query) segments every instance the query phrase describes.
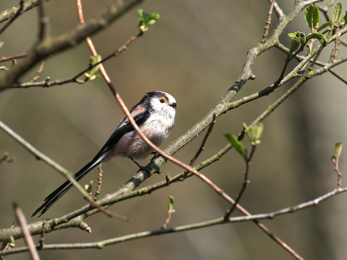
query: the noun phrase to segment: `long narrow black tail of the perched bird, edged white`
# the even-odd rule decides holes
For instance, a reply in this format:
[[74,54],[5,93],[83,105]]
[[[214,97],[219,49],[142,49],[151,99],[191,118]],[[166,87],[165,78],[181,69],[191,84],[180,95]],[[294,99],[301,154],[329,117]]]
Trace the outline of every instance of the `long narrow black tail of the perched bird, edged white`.
[[[96,167],[98,167],[98,164],[100,163],[100,161],[107,155],[108,153],[102,153],[102,154],[98,154],[97,156],[95,156],[95,158],[88,163],[86,166],[84,166],[81,170],[79,170],[75,175],[74,178],[76,181],[79,181],[81,179],[83,179],[85,176],[87,176],[89,173],[91,173]],[[34,214],[31,216],[35,216],[37,213],[41,211],[39,217],[44,214],[47,209],[49,209],[54,202],[56,202],[59,198],[61,198],[68,190],[70,190],[73,187],[73,184],[68,180],[66,182],[64,182],[64,184],[62,184],[58,189],[56,189],[55,191],[53,191],[51,194],[49,194],[47,196],[47,198],[45,198],[45,203],[43,203],[40,208],[36,209],[36,211],[34,212]]]

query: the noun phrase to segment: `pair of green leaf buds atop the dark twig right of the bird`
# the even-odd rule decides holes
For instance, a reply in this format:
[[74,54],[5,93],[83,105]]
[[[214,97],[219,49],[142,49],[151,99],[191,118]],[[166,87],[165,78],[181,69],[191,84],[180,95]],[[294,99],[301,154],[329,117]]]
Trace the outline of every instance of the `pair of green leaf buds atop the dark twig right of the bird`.
[[[246,123],[243,123],[243,126],[245,128],[245,132],[247,133],[247,136],[249,138],[249,141],[251,141],[251,144],[253,146],[256,146],[260,144],[260,137],[264,130],[264,125],[262,123],[255,123],[252,124],[250,127],[247,126]],[[243,144],[238,140],[238,138],[230,133],[225,134],[226,138],[230,141],[232,146],[239,152],[242,157],[245,159],[248,158],[248,153]]]

